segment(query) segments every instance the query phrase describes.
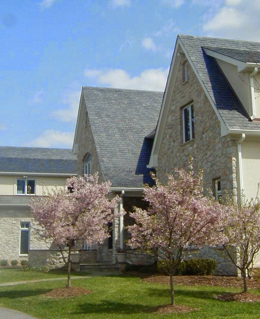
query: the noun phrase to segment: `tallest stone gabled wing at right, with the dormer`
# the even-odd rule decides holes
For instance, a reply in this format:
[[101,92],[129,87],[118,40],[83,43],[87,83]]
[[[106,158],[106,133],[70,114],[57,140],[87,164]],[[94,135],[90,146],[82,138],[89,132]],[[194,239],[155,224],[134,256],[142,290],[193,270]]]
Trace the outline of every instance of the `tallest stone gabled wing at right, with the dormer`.
[[[260,43],[179,35],[149,167],[166,181],[175,167],[203,168],[204,189],[255,197],[260,182]],[[215,185],[217,184],[217,189]],[[202,253],[195,253],[201,256]],[[236,272],[226,257],[220,273]],[[259,264],[258,264],[259,265]]]

